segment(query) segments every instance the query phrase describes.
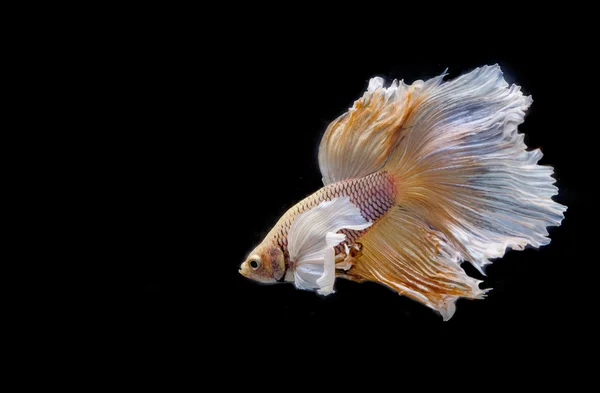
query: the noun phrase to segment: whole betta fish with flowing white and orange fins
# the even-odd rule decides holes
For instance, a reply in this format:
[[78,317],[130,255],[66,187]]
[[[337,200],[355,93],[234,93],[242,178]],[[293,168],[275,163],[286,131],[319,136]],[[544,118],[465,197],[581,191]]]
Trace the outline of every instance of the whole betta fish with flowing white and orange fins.
[[457,299],[487,291],[463,261],[484,274],[507,248],[550,243],[546,227],[566,206],[517,130],[532,98],[498,65],[444,77],[372,78],[323,135],[323,188],[281,217],[240,273],[321,295],[336,278],[374,281],[448,320]]

